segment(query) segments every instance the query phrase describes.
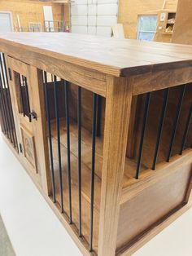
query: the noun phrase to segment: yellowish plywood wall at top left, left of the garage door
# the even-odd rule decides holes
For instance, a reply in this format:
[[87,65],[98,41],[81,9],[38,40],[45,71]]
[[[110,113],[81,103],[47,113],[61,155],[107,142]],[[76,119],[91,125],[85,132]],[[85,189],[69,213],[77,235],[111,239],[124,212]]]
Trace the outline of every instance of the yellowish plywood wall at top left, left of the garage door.
[[20,16],[20,26],[28,28],[28,22],[41,22],[43,25],[43,6],[52,6],[54,20],[62,20],[62,5],[50,2],[27,0],[0,0],[0,11],[11,11],[13,25],[18,27],[16,15]]

